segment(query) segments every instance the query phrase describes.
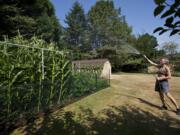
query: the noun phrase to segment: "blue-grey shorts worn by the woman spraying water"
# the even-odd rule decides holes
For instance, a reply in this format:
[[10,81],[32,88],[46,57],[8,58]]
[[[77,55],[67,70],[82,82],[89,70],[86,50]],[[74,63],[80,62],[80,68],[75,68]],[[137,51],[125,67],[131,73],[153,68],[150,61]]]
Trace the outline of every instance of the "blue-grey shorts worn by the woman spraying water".
[[167,93],[169,91],[168,80],[156,81],[155,91]]

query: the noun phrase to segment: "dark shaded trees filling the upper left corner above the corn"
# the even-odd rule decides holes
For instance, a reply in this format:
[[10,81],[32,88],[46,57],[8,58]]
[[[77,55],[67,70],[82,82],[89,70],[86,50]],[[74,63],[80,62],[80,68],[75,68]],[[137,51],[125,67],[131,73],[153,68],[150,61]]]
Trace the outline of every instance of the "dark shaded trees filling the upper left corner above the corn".
[[0,35],[13,37],[20,31],[26,38],[59,42],[61,26],[49,0],[1,0],[0,18]]

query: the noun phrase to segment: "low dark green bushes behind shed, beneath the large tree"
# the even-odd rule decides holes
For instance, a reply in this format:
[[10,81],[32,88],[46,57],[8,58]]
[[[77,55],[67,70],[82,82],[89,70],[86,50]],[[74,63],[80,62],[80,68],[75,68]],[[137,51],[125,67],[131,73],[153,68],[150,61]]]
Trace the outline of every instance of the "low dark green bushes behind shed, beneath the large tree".
[[112,66],[112,71],[114,72],[140,72],[146,67],[141,56],[126,53],[124,50],[117,50],[116,48],[112,47],[103,47],[97,49],[97,55],[100,58],[109,59]]

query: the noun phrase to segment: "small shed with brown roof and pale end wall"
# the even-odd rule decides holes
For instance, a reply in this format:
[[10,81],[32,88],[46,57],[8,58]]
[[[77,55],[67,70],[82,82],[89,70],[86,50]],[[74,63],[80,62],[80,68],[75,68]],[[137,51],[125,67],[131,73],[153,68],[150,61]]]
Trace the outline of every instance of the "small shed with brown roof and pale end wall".
[[79,72],[88,66],[92,68],[101,67],[102,71],[100,77],[110,79],[111,63],[108,59],[76,60],[72,62],[73,70],[78,70]]

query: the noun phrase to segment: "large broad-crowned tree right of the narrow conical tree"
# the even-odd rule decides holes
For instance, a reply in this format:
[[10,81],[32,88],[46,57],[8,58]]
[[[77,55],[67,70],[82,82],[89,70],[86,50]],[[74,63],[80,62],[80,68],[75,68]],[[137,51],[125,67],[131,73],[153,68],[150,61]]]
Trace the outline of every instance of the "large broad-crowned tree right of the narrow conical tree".
[[90,41],[93,48],[119,46],[128,41],[132,29],[113,1],[97,1],[88,12]]

